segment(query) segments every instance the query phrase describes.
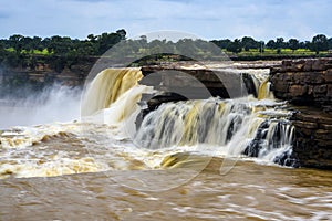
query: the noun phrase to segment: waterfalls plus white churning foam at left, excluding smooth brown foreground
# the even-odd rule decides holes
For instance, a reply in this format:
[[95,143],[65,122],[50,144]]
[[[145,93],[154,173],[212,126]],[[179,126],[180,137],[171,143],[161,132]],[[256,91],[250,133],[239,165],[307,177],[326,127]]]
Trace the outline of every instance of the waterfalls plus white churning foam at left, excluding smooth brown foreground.
[[187,160],[177,154],[194,152],[297,166],[290,113],[271,99],[263,77],[256,77],[260,99],[249,95],[164,103],[144,117],[136,131],[143,108],[137,103],[143,94],[155,93],[138,84],[142,77],[138,69],[105,70],[87,86],[81,122],[0,131],[6,159],[0,178],[156,169]]

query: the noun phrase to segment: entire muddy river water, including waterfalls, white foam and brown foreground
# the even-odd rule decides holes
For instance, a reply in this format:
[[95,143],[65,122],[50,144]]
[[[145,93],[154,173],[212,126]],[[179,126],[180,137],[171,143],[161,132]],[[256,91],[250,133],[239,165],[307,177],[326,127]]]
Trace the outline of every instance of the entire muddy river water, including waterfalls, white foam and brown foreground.
[[263,75],[258,98],[164,104],[136,131],[152,88],[105,70],[81,120],[1,131],[0,220],[330,220],[332,173],[292,168],[290,112]]

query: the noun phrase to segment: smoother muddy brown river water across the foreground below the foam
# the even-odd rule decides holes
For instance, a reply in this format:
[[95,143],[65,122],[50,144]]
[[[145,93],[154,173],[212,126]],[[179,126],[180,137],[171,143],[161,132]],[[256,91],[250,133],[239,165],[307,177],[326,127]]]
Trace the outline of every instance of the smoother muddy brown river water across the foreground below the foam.
[[[169,171],[180,179],[190,166],[2,179],[0,220],[331,220],[331,171],[237,161],[220,175],[221,161],[160,191],[154,179],[172,185]],[[154,191],[127,186],[133,175]]]

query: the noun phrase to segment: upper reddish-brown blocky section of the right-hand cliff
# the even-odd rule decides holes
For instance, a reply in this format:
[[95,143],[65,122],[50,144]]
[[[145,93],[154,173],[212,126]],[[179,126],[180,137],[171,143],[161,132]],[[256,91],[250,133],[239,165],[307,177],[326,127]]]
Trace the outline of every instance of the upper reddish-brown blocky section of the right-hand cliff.
[[271,83],[277,98],[332,112],[332,59],[283,61],[271,69]]

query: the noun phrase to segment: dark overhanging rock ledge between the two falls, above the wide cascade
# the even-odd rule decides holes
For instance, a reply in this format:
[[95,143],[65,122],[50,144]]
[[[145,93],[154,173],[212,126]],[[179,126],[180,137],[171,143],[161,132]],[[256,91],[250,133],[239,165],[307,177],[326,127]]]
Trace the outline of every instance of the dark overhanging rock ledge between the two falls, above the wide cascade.
[[[257,95],[253,78],[247,73],[236,74],[227,70],[184,67],[180,65],[143,66],[145,76],[141,83],[156,90],[175,92],[189,99],[211,96],[234,98],[243,94]],[[241,85],[241,83],[245,85]]]

